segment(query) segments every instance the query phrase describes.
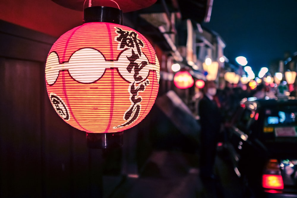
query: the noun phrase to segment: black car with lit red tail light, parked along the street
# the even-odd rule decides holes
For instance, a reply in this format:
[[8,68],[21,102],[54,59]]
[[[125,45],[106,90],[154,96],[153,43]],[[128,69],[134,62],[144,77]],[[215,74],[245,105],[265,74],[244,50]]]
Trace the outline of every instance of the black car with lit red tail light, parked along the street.
[[297,197],[297,99],[242,99],[225,148],[245,197]]

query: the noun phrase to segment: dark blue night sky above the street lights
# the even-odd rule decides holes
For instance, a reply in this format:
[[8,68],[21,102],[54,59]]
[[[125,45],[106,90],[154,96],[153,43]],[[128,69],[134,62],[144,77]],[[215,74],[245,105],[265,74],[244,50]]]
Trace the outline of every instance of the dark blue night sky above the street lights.
[[222,37],[230,62],[245,56],[255,71],[297,51],[297,0],[214,0],[202,25]]

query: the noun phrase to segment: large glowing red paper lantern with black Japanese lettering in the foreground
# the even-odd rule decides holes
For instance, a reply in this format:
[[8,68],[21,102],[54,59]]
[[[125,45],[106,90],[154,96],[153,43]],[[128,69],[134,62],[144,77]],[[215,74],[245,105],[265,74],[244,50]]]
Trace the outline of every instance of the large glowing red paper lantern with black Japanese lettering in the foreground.
[[89,147],[101,138],[99,147],[108,148],[108,137],[140,123],[151,110],[159,89],[159,61],[142,34],[120,24],[94,22],[87,9],[85,23],[51,47],[46,88],[59,116],[86,132]]

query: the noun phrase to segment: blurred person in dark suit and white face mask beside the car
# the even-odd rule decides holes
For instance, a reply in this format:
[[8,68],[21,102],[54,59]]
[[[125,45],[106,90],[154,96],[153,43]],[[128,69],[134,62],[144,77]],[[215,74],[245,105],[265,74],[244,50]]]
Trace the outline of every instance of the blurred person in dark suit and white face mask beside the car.
[[199,101],[200,116],[200,176],[214,179],[214,163],[217,143],[222,125],[219,100],[216,96],[217,86],[214,81],[206,81],[203,97]]

